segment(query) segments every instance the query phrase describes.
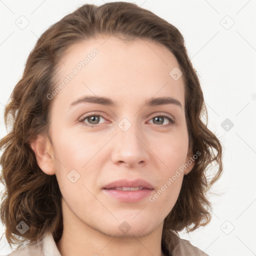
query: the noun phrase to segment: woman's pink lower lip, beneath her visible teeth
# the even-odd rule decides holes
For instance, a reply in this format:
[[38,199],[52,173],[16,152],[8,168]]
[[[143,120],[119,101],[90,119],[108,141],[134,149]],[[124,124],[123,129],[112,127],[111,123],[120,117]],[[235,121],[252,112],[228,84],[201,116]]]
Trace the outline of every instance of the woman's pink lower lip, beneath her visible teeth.
[[148,197],[152,193],[153,189],[141,189],[135,191],[123,191],[115,189],[103,189],[104,193],[116,198],[122,202],[137,202],[145,197]]

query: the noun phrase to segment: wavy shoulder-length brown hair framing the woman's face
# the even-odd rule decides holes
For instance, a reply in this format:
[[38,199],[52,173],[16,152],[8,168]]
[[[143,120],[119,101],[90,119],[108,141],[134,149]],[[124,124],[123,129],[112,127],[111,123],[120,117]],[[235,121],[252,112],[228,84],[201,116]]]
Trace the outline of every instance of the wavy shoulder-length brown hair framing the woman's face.
[[[222,172],[222,148],[207,128],[202,90],[183,36],[166,20],[133,3],[84,4],[42,33],[5,107],[4,121],[6,127],[10,124],[10,131],[0,140],[0,178],[5,188],[0,217],[11,247],[41,239],[47,231],[52,232],[55,242],[61,237],[61,192],[56,176],[39,168],[30,142],[37,134],[48,131],[53,100],[46,95],[54,89],[57,64],[67,48],[103,34],[158,42],[174,54],[183,72],[189,152],[201,154],[194,160],[192,170],[184,175],[178,199],[164,219],[162,250],[173,251],[177,231],[192,231],[210,221],[211,204],[206,192]],[[206,123],[202,117],[206,117]],[[210,170],[209,178],[206,172],[213,163],[217,168]],[[29,226],[23,234],[15,228],[20,221]]]

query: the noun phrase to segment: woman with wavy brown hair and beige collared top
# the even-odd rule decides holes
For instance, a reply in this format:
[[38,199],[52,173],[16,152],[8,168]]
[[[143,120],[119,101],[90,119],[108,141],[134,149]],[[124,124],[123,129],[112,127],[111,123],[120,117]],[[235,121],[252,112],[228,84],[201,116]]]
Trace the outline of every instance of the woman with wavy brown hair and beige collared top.
[[53,24],[4,115],[9,255],[207,255],[177,233],[210,221],[222,171],[203,113],[182,35],[152,12],[84,4]]

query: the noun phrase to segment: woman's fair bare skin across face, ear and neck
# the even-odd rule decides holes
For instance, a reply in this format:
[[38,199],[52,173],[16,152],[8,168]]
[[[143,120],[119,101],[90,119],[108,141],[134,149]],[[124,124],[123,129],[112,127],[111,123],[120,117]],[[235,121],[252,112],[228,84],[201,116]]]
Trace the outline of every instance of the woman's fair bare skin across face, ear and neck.
[[[160,256],[163,220],[193,163],[154,202],[148,197],[121,202],[101,188],[117,179],[141,178],[153,185],[153,195],[187,162],[191,155],[183,77],[174,80],[169,75],[179,65],[165,46],[102,35],[68,49],[57,66],[55,86],[94,48],[98,54],[51,99],[48,136],[40,134],[31,143],[39,167],[56,175],[62,194],[64,228],[56,245],[62,256]],[[85,95],[109,97],[115,105],[69,106]],[[151,97],[161,96],[177,99],[182,107],[144,106]],[[94,112],[103,116],[95,124],[90,118],[83,121],[89,126],[79,122]],[[175,124],[167,118],[154,121],[162,114]],[[126,131],[118,126],[122,118],[131,124]],[[80,175],[74,183],[66,176],[72,169]],[[127,233],[118,228],[123,221],[130,226]]]

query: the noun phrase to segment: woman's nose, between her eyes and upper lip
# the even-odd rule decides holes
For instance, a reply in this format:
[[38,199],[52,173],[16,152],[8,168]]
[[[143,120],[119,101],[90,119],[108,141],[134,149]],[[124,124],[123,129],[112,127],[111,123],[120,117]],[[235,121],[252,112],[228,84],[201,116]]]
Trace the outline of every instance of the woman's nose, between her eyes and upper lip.
[[127,167],[145,165],[149,160],[150,151],[145,140],[136,125],[131,125],[126,131],[117,127],[111,153],[112,162]]

